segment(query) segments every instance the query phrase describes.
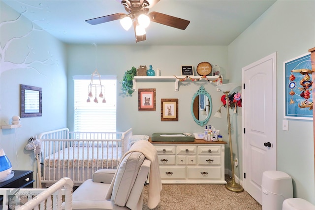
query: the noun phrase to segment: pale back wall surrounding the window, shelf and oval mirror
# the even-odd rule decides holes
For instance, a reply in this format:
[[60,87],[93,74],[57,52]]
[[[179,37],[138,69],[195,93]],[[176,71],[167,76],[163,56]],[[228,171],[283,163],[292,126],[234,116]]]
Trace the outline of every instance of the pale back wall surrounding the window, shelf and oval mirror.
[[[96,55],[97,54],[97,55]],[[95,60],[96,65],[95,65]],[[161,76],[181,75],[181,65],[197,66],[202,61],[209,61],[213,65],[227,70],[227,46],[98,46],[97,53],[94,45],[68,46],[68,98],[73,98],[73,75],[93,73],[95,68],[101,75],[117,75],[119,81],[123,79],[126,70],[132,66],[153,66],[160,68]],[[193,94],[204,85],[211,94],[213,101],[213,115],[221,105],[222,92],[217,92],[215,85],[210,82],[185,82],[175,91],[174,81],[140,81],[137,88],[156,89],[156,111],[138,111],[138,91],[131,97],[122,94],[121,84],[118,82],[117,92],[117,129],[123,131],[133,128],[135,134],[151,135],[155,132],[203,132],[203,127],[197,125],[190,112]],[[105,90],[106,91],[106,90]],[[88,92],[87,92],[88,94]],[[179,120],[160,120],[160,99],[179,99]],[[73,102],[68,101],[68,126],[73,124]],[[218,129],[224,129],[226,119],[215,119],[213,115],[208,124]],[[226,128],[225,128],[226,127]],[[227,135],[225,135],[227,136]]]

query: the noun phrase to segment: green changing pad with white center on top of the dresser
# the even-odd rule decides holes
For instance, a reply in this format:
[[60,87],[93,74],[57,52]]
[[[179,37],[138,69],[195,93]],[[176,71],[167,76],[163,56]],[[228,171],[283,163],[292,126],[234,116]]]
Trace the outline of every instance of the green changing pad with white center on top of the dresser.
[[153,142],[194,142],[193,136],[187,136],[184,133],[153,133],[151,141]]

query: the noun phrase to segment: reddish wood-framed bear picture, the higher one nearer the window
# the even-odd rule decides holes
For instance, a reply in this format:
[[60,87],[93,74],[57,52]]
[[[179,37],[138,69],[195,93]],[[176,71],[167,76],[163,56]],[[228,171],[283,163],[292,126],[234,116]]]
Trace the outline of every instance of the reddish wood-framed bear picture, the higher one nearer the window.
[[156,90],[138,90],[138,111],[156,111]]

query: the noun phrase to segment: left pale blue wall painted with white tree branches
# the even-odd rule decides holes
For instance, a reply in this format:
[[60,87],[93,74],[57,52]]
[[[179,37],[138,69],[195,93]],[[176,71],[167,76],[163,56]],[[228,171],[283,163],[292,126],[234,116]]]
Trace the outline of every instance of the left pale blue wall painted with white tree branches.
[[24,150],[28,140],[66,126],[66,54],[63,43],[18,17],[0,1],[0,124],[20,115],[20,84],[42,88],[43,114],[22,118],[21,128],[1,129],[0,147],[14,170],[35,170],[32,151]]

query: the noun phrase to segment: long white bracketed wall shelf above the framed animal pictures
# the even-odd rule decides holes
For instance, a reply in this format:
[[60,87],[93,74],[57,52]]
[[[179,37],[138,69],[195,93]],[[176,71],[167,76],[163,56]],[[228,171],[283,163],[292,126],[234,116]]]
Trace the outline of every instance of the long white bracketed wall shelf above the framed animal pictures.
[[[176,78],[177,77],[177,78]],[[175,81],[175,91],[178,91],[178,83],[180,79],[184,79],[186,76],[135,76],[132,80],[133,90],[137,90],[137,80],[174,80]],[[201,76],[190,76],[191,79],[199,79]],[[219,76],[207,76],[208,81],[215,81],[219,78]],[[198,80],[200,82],[204,82],[205,80]],[[191,82],[191,80],[187,79],[182,82]],[[196,81],[197,82],[197,81]]]

